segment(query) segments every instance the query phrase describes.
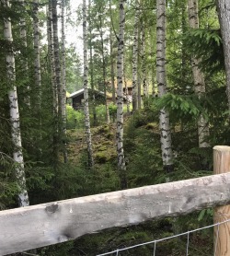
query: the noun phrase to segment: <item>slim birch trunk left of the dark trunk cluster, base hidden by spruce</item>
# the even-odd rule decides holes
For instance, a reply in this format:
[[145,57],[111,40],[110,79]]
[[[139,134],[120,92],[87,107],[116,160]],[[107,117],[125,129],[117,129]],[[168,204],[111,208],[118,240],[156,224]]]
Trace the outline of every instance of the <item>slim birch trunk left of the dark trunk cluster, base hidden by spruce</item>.
[[39,0],[33,1],[33,43],[34,43],[34,71],[35,85],[37,87],[38,106],[40,108],[41,101],[41,76],[40,76],[40,28],[39,28]]

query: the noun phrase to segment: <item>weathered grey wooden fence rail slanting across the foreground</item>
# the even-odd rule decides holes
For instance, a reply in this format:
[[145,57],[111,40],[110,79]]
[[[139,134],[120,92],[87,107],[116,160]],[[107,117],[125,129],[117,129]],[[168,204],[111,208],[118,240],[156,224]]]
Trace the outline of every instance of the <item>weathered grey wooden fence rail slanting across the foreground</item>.
[[0,212],[0,255],[230,203],[230,173]]

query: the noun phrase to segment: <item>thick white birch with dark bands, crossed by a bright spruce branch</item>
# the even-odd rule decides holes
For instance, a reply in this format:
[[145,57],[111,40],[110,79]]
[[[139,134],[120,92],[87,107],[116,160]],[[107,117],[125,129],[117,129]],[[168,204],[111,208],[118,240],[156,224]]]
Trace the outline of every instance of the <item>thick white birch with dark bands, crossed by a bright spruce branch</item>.
[[[166,32],[166,0],[156,0],[156,82],[159,97],[167,93]],[[165,109],[159,114],[159,129],[164,169],[170,171],[173,169],[173,153],[169,115]]]

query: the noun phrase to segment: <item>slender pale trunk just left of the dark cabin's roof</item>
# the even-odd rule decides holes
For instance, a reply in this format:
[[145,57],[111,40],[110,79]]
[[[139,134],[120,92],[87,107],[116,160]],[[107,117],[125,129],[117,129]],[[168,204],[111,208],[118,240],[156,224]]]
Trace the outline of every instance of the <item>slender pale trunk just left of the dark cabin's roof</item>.
[[61,109],[62,109],[62,122],[63,122],[63,161],[67,163],[68,156],[66,150],[66,68],[65,68],[65,33],[64,33],[64,5],[65,0],[61,3],[61,24],[62,24],[62,97],[61,97]]

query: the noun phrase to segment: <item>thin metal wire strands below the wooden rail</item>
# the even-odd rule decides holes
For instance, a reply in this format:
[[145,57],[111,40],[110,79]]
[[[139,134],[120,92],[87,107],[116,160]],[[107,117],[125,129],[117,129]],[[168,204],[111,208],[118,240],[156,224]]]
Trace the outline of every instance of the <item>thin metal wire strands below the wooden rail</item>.
[[[190,233],[194,233],[194,232],[197,232],[197,231],[201,231],[201,230],[203,230],[203,229],[208,229],[208,228],[210,228],[210,227],[218,227],[218,229],[217,229],[217,234],[219,234],[219,227],[220,227],[220,225],[222,225],[222,224],[224,224],[224,223],[227,223],[227,222],[229,222],[230,221],[230,219],[227,219],[227,220],[224,220],[223,222],[218,222],[218,223],[215,223],[215,224],[213,224],[213,225],[209,225],[209,226],[206,226],[206,227],[200,227],[200,228],[196,228],[196,229],[193,229],[193,230],[190,230],[190,231],[187,231],[187,232],[184,232],[184,233],[180,233],[180,234],[177,234],[177,235],[174,235],[174,236],[171,236],[171,237],[167,237],[167,238],[164,238],[164,239],[157,239],[157,240],[153,240],[153,241],[148,241],[148,242],[144,242],[144,243],[140,243],[140,244],[136,244],[136,245],[132,245],[132,246],[130,246],[130,247],[126,247],[126,248],[121,248],[121,249],[119,249],[119,250],[112,250],[112,251],[109,251],[109,252],[105,252],[105,253],[102,253],[102,254],[98,254],[97,256],[104,256],[104,255],[109,255],[109,254],[113,254],[113,253],[118,253],[118,251],[122,251],[122,250],[130,250],[130,249],[134,249],[134,248],[137,248],[137,247],[141,247],[141,246],[144,246],[144,245],[149,245],[149,244],[153,244],[153,243],[155,243],[155,245],[156,245],[156,243],[157,242],[161,242],[161,241],[165,241],[165,240],[167,240],[167,239],[175,239],[175,238],[178,238],[178,237],[181,237],[181,236],[185,236],[185,235],[187,235],[188,236],[188,234],[190,234]],[[188,239],[189,239],[189,237],[188,237]],[[188,240],[187,240],[187,250],[189,250],[189,242],[188,242]],[[216,250],[216,249],[215,249]],[[188,251],[189,252],[189,251]],[[118,255],[118,254],[117,254]],[[188,255],[188,254],[186,254],[186,255]],[[155,250],[154,250],[154,256],[155,256]]]

